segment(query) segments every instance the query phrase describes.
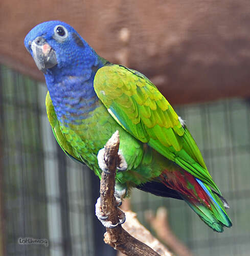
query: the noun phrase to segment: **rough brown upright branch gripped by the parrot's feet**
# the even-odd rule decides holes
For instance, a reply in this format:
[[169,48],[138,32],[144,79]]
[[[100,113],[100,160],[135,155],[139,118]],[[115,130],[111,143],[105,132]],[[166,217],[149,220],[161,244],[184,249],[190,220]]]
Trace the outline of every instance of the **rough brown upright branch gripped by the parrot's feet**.
[[[100,186],[102,212],[105,216],[108,216],[108,220],[111,221],[112,224],[116,224],[119,222],[118,211],[117,207],[115,206],[114,197],[115,176],[117,169],[117,153],[119,150],[119,143],[119,132],[117,131],[112,135],[112,137],[105,145],[104,160],[110,174],[102,172]],[[107,232],[104,234],[104,242],[126,255],[160,255],[146,244],[132,237],[126,230],[122,228],[121,225],[113,229],[106,228],[106,230]]]

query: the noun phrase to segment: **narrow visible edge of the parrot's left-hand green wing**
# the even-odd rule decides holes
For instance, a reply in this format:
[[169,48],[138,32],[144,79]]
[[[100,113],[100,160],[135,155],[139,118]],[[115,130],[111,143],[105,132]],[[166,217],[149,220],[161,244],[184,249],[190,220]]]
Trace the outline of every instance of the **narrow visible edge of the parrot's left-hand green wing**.
[[49,92],[47,93],[46,96],[46,110],[47,110],[47,116],[49,119],[49,122],[52,127],[52,131],[54,133],[54,136],[56,138],[56,141],[62,148],[63,152],[68,155],[69,157],[73,158],[74,160],[77,160],[79,162],[83,162],[82,159],[80,158],[80,155],[74,150],[74,148],[71,146],[69,142],[66,141],[61,129],[60,125],[54,110],[54,105],[52,103],[51,97]]

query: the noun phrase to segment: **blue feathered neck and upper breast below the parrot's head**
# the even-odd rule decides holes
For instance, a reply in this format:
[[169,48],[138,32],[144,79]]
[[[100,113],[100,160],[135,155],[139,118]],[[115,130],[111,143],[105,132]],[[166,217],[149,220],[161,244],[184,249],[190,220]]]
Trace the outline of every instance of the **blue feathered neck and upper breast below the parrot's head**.
[[66,126],[81,124],[100,105],[94,77],[104,61],[90,47],[82,55],[81,61],[73,60],[68,67],[54,67],[44,74],[57,118]]

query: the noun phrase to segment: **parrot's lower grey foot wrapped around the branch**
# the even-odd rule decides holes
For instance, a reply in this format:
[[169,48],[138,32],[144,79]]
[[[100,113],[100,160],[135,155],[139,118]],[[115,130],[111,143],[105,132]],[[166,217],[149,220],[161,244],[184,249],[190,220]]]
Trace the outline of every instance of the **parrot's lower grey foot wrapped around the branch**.
[[[121,200],[121,199],[120,199]],[[117,201],[116,201],[117,202]],[[119,201],[118,204],[116,206],[120,206],[121,205],[121,202],[122,201]],[[124,212],[118,208],[118,217],[119,217],[119,222],[117,224],[112,224],[111,221],[108,221],[108,216],[104,216],[103,212],[102,212],[102,207],[101,207],[101,198],[99,197],[97,199],[97,203],[96,203],[96,217],[98,218],[98,220],[102,223],[102,225],[104,227],[107,227],[107,228],[115,228],[117,227],[118,225],[121,225],[123,224],[125,221],[126,221],[126,217],[125,217],[125,214]]]

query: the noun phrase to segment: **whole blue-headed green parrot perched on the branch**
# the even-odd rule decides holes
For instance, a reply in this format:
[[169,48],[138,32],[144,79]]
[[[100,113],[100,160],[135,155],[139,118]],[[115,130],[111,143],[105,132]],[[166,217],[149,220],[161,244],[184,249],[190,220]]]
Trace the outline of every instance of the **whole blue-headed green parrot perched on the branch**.
[[59,20],[35,26],[24,44],[44,74],[48,119],[66,155],[101,178],[103,146],[119,131],[118,199],[138,188],[186,201],[217,232],[232,226],[186,122],[145,75],[102,58]]

